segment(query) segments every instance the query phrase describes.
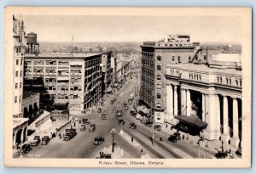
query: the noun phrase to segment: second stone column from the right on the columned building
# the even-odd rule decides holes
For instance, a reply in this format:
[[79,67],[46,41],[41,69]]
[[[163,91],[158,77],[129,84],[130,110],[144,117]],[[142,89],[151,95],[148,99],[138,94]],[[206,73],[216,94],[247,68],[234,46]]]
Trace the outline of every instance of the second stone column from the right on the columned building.
[[228,98],[223,97],[223,128],[224,128],[224,137],[227,142],[230,137],[230,128],[229,128],[229,109],[228,109]]

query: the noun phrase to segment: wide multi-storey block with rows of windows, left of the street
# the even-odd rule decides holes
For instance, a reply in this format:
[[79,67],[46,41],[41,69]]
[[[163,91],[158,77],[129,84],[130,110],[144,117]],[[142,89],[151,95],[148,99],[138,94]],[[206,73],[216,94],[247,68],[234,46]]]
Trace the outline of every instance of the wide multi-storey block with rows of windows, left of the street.
[[26,54],[25,79],[40,79],[44,104],[68,104],[83,114],[102,98],[101,53]]

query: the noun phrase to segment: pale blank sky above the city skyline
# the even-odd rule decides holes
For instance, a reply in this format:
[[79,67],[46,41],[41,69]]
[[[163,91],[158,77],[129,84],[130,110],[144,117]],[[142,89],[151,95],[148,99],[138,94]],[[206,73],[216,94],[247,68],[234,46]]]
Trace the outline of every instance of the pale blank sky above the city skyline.
[[143,42],[189,34],[192,42],[241,42],[237,16],[22,16],[38,42]]

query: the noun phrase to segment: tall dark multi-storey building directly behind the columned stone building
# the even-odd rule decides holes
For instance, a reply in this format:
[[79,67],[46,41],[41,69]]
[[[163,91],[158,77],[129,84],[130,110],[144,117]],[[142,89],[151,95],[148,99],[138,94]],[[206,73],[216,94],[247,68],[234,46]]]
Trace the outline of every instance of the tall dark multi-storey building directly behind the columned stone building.
[[143,42],[141,48],[140,99],[153,110],[154,121],[163,123],[166,110],[166,64],[177,65],[197,60],[201,49],[199,43],[190,42],[190,36],[187,35],[168,35],[159,42]]

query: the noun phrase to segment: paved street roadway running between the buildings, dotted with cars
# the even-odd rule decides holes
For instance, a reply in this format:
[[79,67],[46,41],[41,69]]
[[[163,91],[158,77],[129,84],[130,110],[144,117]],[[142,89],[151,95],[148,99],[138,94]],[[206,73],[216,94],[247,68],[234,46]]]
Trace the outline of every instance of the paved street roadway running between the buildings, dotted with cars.
[[[119,135],[121,127],[118,124],[118,117],[116,116],[116,109],[118,105],[123,106],[123,103],[127,103],[128,96],[131,91],[134,90],[137,84],[137,79],[129,79],[125,82],[125,85],[119,90],[117,101],[114,104],[110,104],[110,100],[113,97],[108,97],[105,101],[103,109],[108,109],[107,120],[102,120],[101,114],[98,114],[96,110],[91,115],[79,115],[79,118],[88,118],[90,123],[96,124],[96,131],[89,132],[89,126],[85,132],[79,132],[79,126],[77,124],[78,135],[70,141],[63,141],[59,137],[53,138],[48,145],[38,145],[32,147],[32,150],[25,154],[24,157],[32,158],[96,158],[103,147],[110,147],[112,144],[112,135],[110,131],[115,128],[117,131],[114,137],[114,142],[117,143],[121,149],[129,154],[127,158],[140,158],[141,148],[127,143],[127,139]],[[130,105],[131,109],[132,105]],[[165,132],[156,132],[154,136],[154,144],[149,141],[149,136],[152,136],[152,128],[144,126],[130,115],[129,110],[123,109],[122,118],[125,120],[125,126],[122,127],[124,132],[134,137],[141,146],[143,146],[143,152],[149,154],[152,158],[197,158],[198,148],[191,143],[184,141],[178,141],[177,143],[171,143],[167,141],[168,134]],[[128,128],[128,124],[135,122],[137,129],[132,130]],[[105,141],[100,145],[94,145],[94,138],[96,136],[102,136]],[[163,142],[159,141],[160,136],[164,139]],[[212,154],[203,152],[208,156]],[[19,155],[15,154],[15,157]]]

